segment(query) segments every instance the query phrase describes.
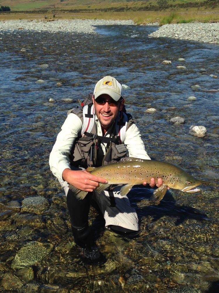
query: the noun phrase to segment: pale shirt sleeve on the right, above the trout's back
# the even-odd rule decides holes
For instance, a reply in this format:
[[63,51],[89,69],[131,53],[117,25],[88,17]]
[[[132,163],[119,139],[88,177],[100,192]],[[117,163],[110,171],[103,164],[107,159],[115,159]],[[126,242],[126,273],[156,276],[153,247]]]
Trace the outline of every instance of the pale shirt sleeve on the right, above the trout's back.
[[134,123],[127,129],[124,143],[129,152],[129,157],[151,160],[145,150],[140,131]]

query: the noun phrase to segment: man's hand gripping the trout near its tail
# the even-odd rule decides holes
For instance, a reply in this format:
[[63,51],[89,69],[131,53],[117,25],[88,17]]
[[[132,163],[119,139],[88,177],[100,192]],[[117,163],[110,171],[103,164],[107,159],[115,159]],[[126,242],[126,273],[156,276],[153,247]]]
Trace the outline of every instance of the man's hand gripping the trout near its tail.
[[106,179],[91,175],[85,170],[71,170],[68,168],[62,172],[62,178],[75,188],[86,192],[92,192],[99,183],[108,183]]

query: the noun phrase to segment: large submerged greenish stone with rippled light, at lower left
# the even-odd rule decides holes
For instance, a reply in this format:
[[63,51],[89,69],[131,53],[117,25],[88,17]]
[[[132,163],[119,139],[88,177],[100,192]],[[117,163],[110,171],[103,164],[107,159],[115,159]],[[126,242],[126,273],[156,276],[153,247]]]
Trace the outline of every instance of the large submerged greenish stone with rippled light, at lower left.
[[11,267],[13,269],[20,269],[36,265],[51,252],[52,248],[53,245],[49,243],[28,242],[15,255]]

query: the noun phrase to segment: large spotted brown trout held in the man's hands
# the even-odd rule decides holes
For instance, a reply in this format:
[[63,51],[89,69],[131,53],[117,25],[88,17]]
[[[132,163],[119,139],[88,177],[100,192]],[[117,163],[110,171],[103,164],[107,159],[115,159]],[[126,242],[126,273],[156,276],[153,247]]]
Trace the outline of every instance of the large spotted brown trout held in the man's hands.
[[[137,158],[123,158],[117,163],[101,167],[88,167],[87,172],[102,177],[108,181],[107,184],[100,183],[95,191],[101,193],[112,184],[125,184],[121,188],[121,195],[125,196],[136,184],[149,183],[151,178],[161,178],[163,184],[154,191],[155,204],[158,204],[167,192],[168,187],[183,192],[198,192],[195,188],[201,181],[189,175],[177,165],[154,160],[142,160]],[[83,199],[87,192],[76,189],[71,184],[69,188],[75,192],[77,199]]]

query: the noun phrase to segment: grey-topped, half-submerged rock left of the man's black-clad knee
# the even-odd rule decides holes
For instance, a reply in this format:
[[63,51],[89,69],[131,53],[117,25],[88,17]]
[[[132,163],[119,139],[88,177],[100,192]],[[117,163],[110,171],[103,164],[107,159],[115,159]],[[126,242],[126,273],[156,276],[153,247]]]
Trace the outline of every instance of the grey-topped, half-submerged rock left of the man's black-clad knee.
[[22,201],[21,212],[42,215],[49,207],[49,201],[41,196],[27,197]]

